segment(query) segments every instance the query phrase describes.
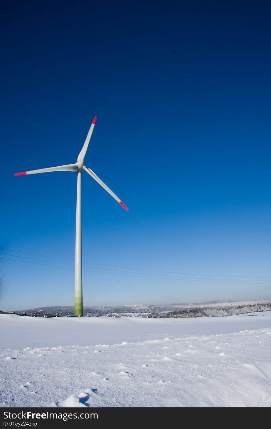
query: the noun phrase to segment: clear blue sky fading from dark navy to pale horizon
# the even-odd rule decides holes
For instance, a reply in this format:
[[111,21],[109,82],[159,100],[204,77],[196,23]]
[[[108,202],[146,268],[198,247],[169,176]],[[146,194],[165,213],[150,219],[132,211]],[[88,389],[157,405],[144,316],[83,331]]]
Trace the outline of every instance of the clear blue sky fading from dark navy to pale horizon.
[[6,5],[1,308],[74,304],[76,173],[13,173],[74,163],[95,115],[86,165],[130,210],[82,174],[84,305],[270,298],[270,12]]

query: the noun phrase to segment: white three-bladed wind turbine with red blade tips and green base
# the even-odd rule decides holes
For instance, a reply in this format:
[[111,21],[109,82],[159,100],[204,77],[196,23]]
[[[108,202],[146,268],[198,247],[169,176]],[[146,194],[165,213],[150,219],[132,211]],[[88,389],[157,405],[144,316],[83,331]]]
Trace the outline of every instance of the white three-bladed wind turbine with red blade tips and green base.
[[115,193],[98,178],[97,175],[85,165],[84,157],[89,145],[89,140],[95,126],[97,116],[92,121],[92,124],[87,133],[86,140],[83,144],[77,162],[75,164],[61,165],[57,167],[42,168],[39,170],[23,171],[15,173],[15,176],[27,174],[49,173],[52,171],[76,171],[77,172],[77,198],[76,198],[76,230],[75,230],[75,278],[74,278],[74,315],[83,316],[83,294],[82,294],[82,233],[81,233],[81,173],[85,170],[96,182],[98,182],[125,210],[128,207],[116,196]]

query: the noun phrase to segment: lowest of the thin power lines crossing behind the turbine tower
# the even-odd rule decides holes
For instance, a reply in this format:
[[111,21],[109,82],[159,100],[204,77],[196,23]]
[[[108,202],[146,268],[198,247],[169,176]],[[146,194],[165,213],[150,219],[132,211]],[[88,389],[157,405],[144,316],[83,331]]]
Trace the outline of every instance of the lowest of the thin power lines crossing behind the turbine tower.
[[[42,265],[42,266],[51,266],[53,268],[64,268],[64,269],[72,269],[74,270],[74,268],[71,267],[61,267],[61,266],[57,266],[57,265],[48,265],[48,264],[41,264],[41,263],[37,263],[37,262],[30,262],[30,261],[20,261],[20,260],[16,260],[16,259],[9,259],[9,258],[0,258],[1,260],[9,260],[9,261],[14,261],[14,262],[21,262],[21,263],[28,263],[28,264],[35,264],[35,265]],[[149,279],[158,279],[158,280],[173,280],[173,281],[208,281],[208,282],[215,282],[215,283],[229,283],[230,281],[234,282],[234,283],[255,283],[255,281],[249,281],[249,280],[209,280],[209,279],[198,279],[198,278],[194,278],[194,279],[188,279],[188,278],[167,278],[167,277],[148,277],[146,275],[133,275],[133,274],[119,274],[116,272],[103,272],[103,271],[93,271],[93,270],[88,270],[88,269],[83,269],[83,271],[88,271],[88,272],[94,272],[94,273],[99,273],[99,274],[110,274],[110,275],[123,275],[125,277],[143,277],[143,278],[149,278]],[[152,274],[150,274],[152,275]],[[153,274],[155,275],[155,274]],[[257,281],[257,283],[270,283],[269,281]]]

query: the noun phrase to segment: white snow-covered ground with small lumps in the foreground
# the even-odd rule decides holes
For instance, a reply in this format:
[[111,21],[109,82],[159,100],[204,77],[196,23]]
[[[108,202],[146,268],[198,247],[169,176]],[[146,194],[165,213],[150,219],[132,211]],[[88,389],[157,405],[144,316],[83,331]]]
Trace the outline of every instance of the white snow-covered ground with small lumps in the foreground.
[[271,406],[271,311],[0,324],[2,407]]

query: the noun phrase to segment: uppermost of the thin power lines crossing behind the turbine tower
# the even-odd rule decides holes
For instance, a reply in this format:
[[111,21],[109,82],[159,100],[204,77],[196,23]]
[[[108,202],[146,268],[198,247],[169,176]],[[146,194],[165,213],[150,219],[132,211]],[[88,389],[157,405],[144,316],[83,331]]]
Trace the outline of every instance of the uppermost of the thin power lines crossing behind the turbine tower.
[[[62,260],[66,260],[66,261],[72,261],[74,263],[73,259],[67,259],[67,258],[55,257],[55,256],[48,256],[48,255],[41,255],[41,254],[38,254],[38,253],[25,252],[25,251],[21,251],[21,250],[9,249],[9,248],[5,248],[5,247],[2,247],[2,249],[8,250],[8,251],[12,251],[12,252],[25,253],[25,254],[30,254],[30,255],[35,255],[35,256],[42,256],[42,257],[53,258],[53,259],[62,259]],[[15,256],[15,255],[12,255],[12,256]],[[25,258],[27,258],[27,257],[25,257]],[[61,263],[61,262],[58,262],[58,263]],[[241,276],[241,275],[222,275],[222,274],[195,274],[195,273],[189,273],[189,272],[162,271],[162,270],[152,270],[152,269],[145,269],[145,268],[123,267],[123,266],[118,266],[118,265],[101,264],[101,263],[96,263],[96,262],[83,262],[83,263],[84,264],[92,264],[92,265],[110,266],[110,267],[115,267],[115,268],[136,269],[136,270],[141,270],[141,271],[164,272],[164,273],[182,274],[182,275],[185,274],[185,275],[204,275],[204,276],[209,276],[209,277],[268,278],[267,276]],[[68,265],[68,264],[66,264],[66,265]],[[148,274],[148,273],[146,273],[146,274]]]

